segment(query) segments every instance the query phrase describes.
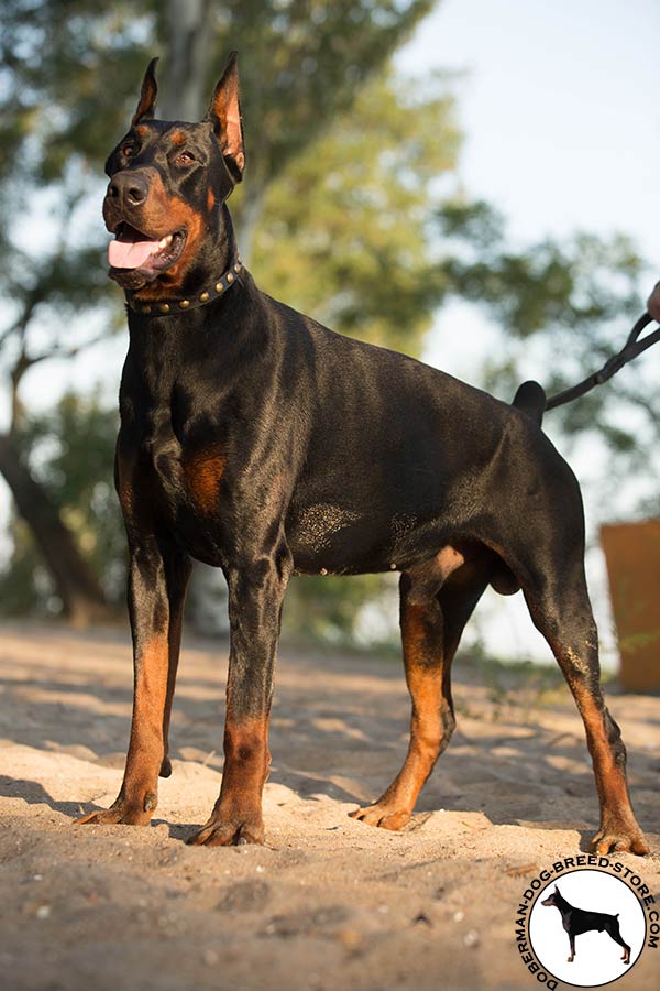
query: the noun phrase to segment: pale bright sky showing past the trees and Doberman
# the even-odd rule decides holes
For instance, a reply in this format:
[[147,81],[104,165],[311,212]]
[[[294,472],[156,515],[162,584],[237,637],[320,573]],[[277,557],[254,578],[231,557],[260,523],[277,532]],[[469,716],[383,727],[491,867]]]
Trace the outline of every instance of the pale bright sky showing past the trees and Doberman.
[[[461,185],[505,214],[516,241],[626,232],[649,259],[650,290],[660,277],[659,43],[657,0],[444,0],[396,62],[407,74],[457,73]],[[425,357],[470,381],[492,342],[483,316],[452,304],[438,316]],[[95,377],[112,396],[124,349],[120,338],[75,364],[35,369],[28,398],[50,403]],[[597,552],[590,580],[612,661]],[[481,623],[495,653],[548,658],[519,596],[491,600]]]

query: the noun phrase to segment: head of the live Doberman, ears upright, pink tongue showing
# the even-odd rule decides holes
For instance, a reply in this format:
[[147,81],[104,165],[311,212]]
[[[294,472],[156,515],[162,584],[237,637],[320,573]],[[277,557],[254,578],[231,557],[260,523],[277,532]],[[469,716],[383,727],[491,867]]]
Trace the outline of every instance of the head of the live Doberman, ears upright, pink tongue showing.
[[199,123],[156,120],[150,63],[131,128],[106,163],[109,275],[144,298],[180,290],[223,233],[222,205],[243,177],[239,69],[232,52]]

